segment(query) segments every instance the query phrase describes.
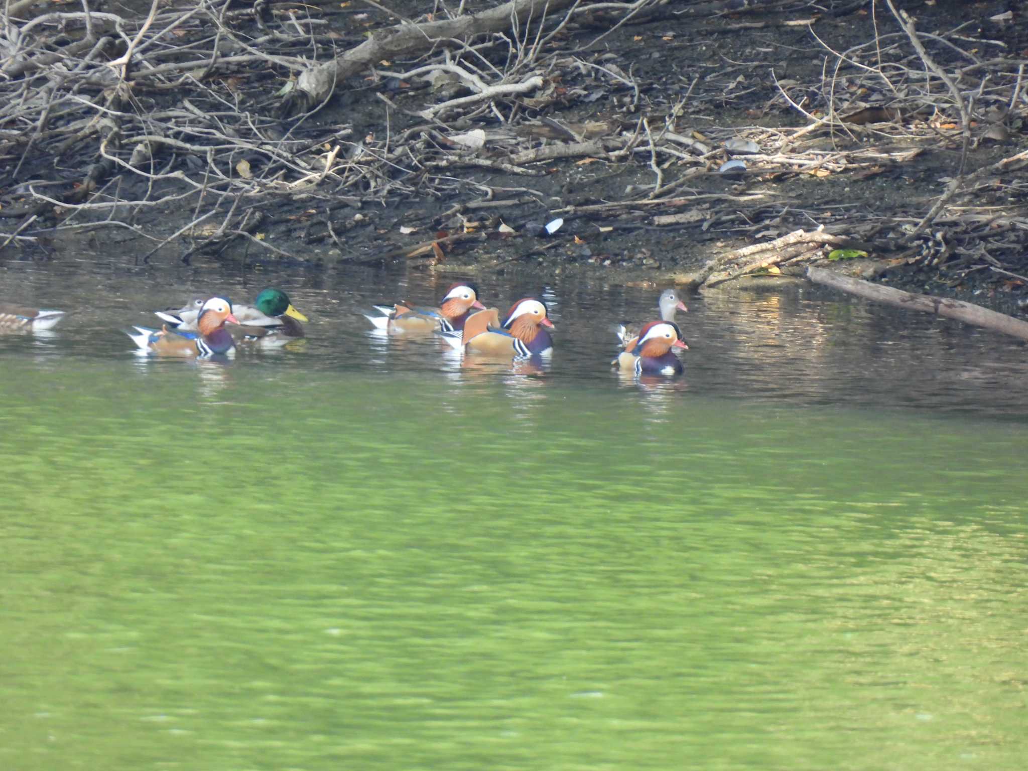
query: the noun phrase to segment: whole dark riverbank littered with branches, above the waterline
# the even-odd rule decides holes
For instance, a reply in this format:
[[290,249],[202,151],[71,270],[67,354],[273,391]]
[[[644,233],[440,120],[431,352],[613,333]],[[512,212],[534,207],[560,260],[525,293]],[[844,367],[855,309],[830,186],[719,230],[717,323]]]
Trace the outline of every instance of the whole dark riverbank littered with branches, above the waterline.
[[[392,40],[403,20],[461,20],[418,16],[412,2],[302,15],[270,4],[264,16],[190,4],[144,30],[144,8],[125,29],[178,48],[144,45],[119,75],[110,65],[127,51],[102,46],[65,81],[84,104],[60,94],[60,117],[31,100],[7,108],[5,125],[46,131],[3,135],[0,260],[85,246],[131,264],[407,262],[659,286],[820,227],[870,246],[859,271],[879,281],[1018,311],[1028,34],[1003,3],[976,5],[974,23],[960,3],[902,3],[924,56],[897,19],[852,3],[806,16],[637,5],[508,20],[470,38],[474,50],[397,51],[292,114],[309,62]],[[492,7],[468,4],[482,17]],[[5,65],[4,88],[41,87],[45,68],[29,65],[57,50],[59,22],[71,45],[89,39],[83,14],[51,15],[27,23],[37,37]],[[215,37],[217,54],[190,65]],[[981,94],[951,98],[926,61]]]

